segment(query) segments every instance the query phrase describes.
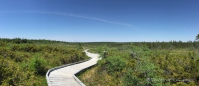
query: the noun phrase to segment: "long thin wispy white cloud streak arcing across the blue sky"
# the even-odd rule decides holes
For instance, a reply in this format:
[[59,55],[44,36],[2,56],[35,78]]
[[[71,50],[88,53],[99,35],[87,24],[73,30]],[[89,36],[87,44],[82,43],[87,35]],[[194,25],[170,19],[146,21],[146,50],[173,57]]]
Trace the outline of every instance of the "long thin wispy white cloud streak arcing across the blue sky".
[[95,21],[101,21],[105,23],[110,23],[110,24],[117,24],[117,25],[124,25],[124,26],[133,26],[128,23],[121,23],[121,22],[113,22],[109,21],[106,19],[100,19],[100,18],[94,18],[94,17],[88,17],[88,16],[82,16],[82,15],[77,15],[77,14],[71,14],[71,13],[56,13],[56,12],[44,12],[44,11],[1,11],[0,13],[42,13],[42,14],[55,14],[55,15],[62,15],[62,16],[71,16],[71,17],[78,17],[78,18],[84,18],[84,19],[90,19],[90,20],[95,20]]

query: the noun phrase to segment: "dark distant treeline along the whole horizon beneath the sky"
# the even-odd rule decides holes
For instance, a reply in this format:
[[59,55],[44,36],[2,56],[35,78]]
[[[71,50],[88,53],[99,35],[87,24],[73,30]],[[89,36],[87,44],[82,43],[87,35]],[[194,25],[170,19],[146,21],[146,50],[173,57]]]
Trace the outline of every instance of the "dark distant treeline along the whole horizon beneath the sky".
[[147,46],[149,49],[174,49],[174,48],[199,48],[199,41],[170,41],[170,42],[64,42],[56,40],[45,40],[45,39],[25,39],[25,38],[0,38],[2,42],[12,42],[16,44],[21,43],[65,43],[65,44],[75,44],[86,45],[86,46],[99,46],[107,45],[108,47],[118,47],[122,45],[135,45],[135,46]]

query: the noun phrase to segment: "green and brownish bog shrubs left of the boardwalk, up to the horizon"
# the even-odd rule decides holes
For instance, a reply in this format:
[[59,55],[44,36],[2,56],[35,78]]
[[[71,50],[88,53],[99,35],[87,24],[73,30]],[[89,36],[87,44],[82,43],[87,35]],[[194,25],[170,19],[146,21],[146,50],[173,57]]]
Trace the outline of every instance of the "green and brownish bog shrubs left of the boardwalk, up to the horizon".
[[79,43],[0,39],[0,86],[47,86],[48,69],[88,59]]

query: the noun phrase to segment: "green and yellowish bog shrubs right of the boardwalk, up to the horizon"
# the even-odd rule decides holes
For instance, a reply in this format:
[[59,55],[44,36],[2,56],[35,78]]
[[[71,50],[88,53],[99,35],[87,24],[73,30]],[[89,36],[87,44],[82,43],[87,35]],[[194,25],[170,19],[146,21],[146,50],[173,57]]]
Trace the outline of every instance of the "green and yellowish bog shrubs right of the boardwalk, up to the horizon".
[[197,41],[90,43],[87,47],[102,56],[96,66],[79,75],[87,86],[199,85]]

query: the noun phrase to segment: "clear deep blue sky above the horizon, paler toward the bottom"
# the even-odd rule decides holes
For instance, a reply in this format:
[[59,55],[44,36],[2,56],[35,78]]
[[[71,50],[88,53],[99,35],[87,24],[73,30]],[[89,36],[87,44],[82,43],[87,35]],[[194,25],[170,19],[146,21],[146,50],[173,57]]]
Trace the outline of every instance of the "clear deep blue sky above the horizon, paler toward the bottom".
[[198,0],[0,0],[0,37],[68,42],[194,41]]

